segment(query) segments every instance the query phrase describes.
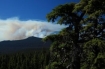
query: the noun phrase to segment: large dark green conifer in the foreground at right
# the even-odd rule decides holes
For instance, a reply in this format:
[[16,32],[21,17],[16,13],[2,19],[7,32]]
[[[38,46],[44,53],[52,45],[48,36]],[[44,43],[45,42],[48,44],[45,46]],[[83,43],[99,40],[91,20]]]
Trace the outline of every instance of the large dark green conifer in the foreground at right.
[[105,1],[80,0],[55,7],[48,21],[68,25],[52,41],[46,69],[105,69]]

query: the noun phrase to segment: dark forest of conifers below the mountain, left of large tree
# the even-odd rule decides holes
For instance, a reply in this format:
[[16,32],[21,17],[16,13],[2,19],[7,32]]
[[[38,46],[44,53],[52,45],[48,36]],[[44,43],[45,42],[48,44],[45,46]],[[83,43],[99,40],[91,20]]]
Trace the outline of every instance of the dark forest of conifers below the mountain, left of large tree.
[[0,55],[0,69],[45,69],[49,63],[46,49],[30,53]]

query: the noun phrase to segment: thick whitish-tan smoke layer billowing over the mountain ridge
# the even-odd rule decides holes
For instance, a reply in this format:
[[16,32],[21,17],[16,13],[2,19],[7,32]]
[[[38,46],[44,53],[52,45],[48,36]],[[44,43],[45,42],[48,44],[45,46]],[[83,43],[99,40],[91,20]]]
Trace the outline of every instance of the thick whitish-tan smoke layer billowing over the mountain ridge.
[[65,26],[43,21],[21,21],[17,18],[0,19],[0,41],[20,40],[30,36],[43,38],[55,31],[60,31]]

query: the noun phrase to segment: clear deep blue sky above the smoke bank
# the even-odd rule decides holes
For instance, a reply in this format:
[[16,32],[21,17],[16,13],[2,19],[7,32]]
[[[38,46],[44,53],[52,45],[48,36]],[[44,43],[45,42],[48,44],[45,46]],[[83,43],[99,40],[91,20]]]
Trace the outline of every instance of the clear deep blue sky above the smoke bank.
[[55,6],[79,0],[0,0],[0,19],[18,17],[20,20],[46,20]]

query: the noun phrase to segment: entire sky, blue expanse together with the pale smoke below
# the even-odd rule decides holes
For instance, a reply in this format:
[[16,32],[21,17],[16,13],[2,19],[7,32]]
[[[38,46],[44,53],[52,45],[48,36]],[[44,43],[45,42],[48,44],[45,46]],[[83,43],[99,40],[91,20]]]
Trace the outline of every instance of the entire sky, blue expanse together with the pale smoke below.
[[0,41],[43,38],[66,26],[49,24],[46,15],[60,4],[79,0],[0,0]]

